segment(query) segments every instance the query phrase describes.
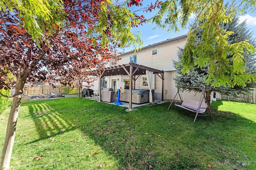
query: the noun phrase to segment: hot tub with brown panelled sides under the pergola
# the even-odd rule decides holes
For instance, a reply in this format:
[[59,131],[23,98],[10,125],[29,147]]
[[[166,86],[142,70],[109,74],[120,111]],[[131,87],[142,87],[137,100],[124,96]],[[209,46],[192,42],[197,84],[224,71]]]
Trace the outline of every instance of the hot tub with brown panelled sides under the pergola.
[[[152,98],[155,100],[155,91],[152,90]],[[129,102],[129,89],[120,92],[120,101]],[[143,104],[149,102],[149,90],[132,89],[132,103]]]

